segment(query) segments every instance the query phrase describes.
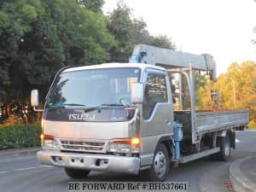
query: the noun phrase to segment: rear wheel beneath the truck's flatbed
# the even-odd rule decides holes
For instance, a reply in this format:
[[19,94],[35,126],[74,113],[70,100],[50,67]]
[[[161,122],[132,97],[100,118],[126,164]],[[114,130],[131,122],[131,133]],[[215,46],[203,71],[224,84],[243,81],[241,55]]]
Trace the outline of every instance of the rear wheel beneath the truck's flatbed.
[[217,138],[217,146],[220,147],[220,152],[218,153],[218,160],[229,160],[230,159],[230,135],[226,134],[225,137]]

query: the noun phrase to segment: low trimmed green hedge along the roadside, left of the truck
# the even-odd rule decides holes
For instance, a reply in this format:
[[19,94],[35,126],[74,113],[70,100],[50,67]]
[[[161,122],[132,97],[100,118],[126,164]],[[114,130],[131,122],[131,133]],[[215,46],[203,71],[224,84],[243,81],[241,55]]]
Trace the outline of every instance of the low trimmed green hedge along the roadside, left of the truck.
[[29,148],[40,145],[40,125],[8,125],[0,127],[0,150]]

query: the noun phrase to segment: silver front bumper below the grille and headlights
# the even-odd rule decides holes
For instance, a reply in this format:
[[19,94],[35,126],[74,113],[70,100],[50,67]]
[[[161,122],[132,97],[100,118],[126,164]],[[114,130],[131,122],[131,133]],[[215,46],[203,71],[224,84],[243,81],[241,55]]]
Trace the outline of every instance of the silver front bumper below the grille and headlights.
[[73,154],[60,151],[38,151],[38,160],[49,166],[60,166],[100,172],[137,174],[140,158],[104,154]]

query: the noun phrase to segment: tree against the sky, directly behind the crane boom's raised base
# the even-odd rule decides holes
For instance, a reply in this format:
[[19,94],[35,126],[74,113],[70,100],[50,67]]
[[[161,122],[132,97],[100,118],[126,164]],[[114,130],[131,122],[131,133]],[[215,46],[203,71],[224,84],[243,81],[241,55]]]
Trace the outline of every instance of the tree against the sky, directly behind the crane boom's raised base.
[[123,1],[117,3],[117,8],[108,15],[108,30],[116,40],[111,49],[113,62],[127,62],[135,44],[149,44],[166,49],[175,49],[172,40],[166,35],[154,37],[146,29],[142,20],[131,18],[131,9]]

